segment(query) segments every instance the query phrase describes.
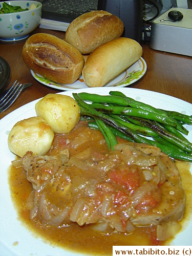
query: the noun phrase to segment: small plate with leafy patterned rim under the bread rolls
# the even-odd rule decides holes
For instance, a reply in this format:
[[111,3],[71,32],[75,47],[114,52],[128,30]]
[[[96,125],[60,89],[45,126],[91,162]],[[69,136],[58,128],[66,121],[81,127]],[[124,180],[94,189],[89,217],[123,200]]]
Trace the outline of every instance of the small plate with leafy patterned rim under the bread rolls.
[[[136,61],[131,67],[124,70],[121,74],[116,76],[113,80],[106,83],[104,87],[125,87],[130,86],[132,83],[138,81],[146,72],[146,62],[143,58]],[[32,76],[45,86],[52,87],[54,89],[62,91],[70,91],[75,89],[89,88],[83,81],[82,75],[77,81],[72,84],[60,84],[53,82],[31,70]]]

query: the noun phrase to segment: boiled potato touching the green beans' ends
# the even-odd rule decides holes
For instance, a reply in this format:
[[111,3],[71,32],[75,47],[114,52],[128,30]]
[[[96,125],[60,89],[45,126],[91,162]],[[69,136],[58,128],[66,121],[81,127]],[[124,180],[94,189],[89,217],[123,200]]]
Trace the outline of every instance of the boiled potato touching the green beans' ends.
[[70,96],[47,94],[35,104],[37,116],[44,118],[55,133],[69,133],[80,119],[80,108]]

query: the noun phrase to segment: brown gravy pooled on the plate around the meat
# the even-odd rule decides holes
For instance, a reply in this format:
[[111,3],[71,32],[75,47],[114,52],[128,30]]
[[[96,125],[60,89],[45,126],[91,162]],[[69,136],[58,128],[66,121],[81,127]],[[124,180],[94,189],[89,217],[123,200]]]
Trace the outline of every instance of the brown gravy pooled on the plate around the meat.
[[[89,129],[86,122],[80,121],[75,129],[66,135],[55,134],[53,141],[53,146],[47,155],[56,155],[61,150],[66,148],[66,141],[72,140],[75,143],[75,138],[84,130]],[[103,141],[103,135],[96,130],[89,129],[90,138],[97,138],[97,141]],[[81,138],[83,140],[83,138]],[[119,143],[124,143],[125,141],[117,138]],[[74,146],[70,150],[70,155],[75,156],[76,154],[85,150],[88,147],[96,147],[98,152],[108,153],[108,147],[106,143],[97,143],[90,140],[88,143],[83,143],[83,141],[77,140],[80,146]],[[98,146],[99,144],[99,146]],[[185,213],[184,218],[180,221],[181,230],[185,228],[187,222],[190,221],[192,203],[192,178],[190,174],[190,164],[183,161],[176,161],[176,165],[179,169],[181,176],[182,187],[185,189],[186,202],[185,202]],[[88,224],[79,226],[76,222],[70,225],[51,226],[41,223],[41,220],[36,216],[35,218],[30,218],[30,210],[27,208],[27,200],[31,194],[33,188],[32,184],[27,180],[26,171],[23,167],[15,168],[10,167],[9,172],[9,185],[11,190],[11,196],[13,204],[17,210],[19,220],[22,221],[29,228],[32,233],[40,236],[45,242],[51,243],[53,246],[59,246],[65,248],[66,250],[76,251],[80,253],[88,253],[95,255],[111,255],[114,245],[167,245],[170,244],[171,239],[168,241],[158,241],[157,240],[157,226],[144,226],[136,227],[133,232],[117,232],[117,231],[101,231],[95,229],[95,224]],[[173,238],[172,238],[173,239]]]

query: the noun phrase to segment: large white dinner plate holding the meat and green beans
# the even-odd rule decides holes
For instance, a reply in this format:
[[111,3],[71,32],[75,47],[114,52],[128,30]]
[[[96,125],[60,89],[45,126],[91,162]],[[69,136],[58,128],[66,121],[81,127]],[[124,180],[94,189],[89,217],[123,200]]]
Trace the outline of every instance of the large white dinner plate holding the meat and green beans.
[[[75,90],[74,92],[107,95],[112,90],[115,91],[116,88],[100,88],[99,90],[98,88],[89,88]],[[129,95],[131,98],[155,106],[156,108],[178,111],[187,115],[191,115],[192,112],[192,104],[168,95],[134,88],[118,88],[118,91],[123,92],[127,96]],[[62,92],[61,94],[72,96],[72,93],[73,91],[68,91]],[[11,201],[8,185],[8,168],[11,161],[15,159],[15,156],[8,149],[8,134],[17,121],[36,116],[35,103],[37,101],[38,100],[35,100],[22,106],[0,120],[0,254],[2,256],[78,256],[78,253],[65,251],[56,246],[53,247],[49,243],[44,243],[40,237],[34,236],[34,234],[17,219],[17,212]],[[185,127],[189,131],[187,138],[192,142],[192,125],[185,125]],[[190,172],[192,173],[192,166],[190,166]],[[172,245],[191,245],[191,237],[192,219],[187,222],[187,227],[177,234],[176,238],[172,241]]]

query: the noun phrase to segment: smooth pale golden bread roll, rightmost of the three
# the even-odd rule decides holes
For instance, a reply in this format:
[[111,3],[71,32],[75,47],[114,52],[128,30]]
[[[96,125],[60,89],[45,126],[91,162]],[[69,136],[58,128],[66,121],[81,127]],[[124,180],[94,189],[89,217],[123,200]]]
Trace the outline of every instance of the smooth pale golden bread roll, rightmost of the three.
[[88,87],[102,87],[142,55],[140,44],[120,37],[96,48],[87,58],[82,77]]

